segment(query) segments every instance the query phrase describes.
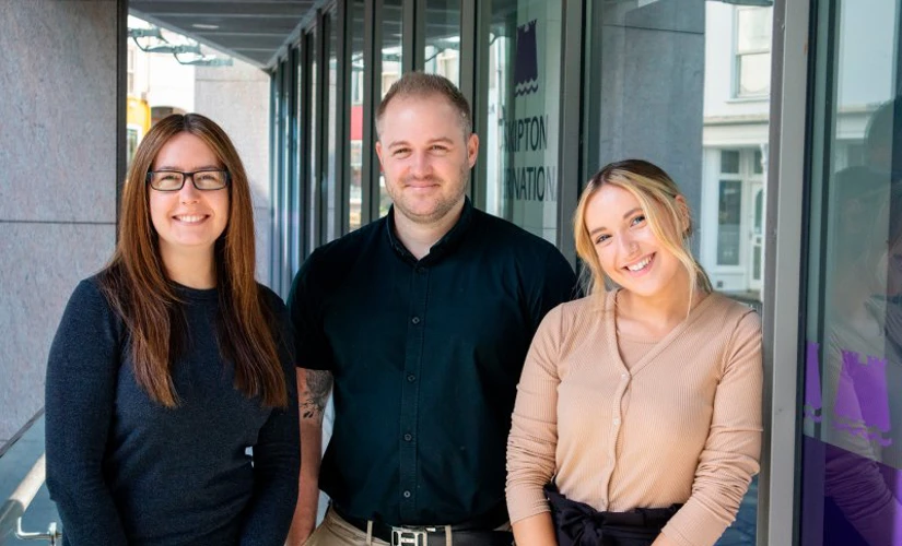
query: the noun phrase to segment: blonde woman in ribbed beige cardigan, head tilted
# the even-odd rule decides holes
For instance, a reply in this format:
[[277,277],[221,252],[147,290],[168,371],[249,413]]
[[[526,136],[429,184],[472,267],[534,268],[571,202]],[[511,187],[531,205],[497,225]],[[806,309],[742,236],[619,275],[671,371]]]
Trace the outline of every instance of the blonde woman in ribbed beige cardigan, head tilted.
[[514,408],[517,546],[704,546],[734,521],[759,468],[761,329],[712,290],[691,232],[647,162],[608,165],[583,192],[589,296],[546,317]]

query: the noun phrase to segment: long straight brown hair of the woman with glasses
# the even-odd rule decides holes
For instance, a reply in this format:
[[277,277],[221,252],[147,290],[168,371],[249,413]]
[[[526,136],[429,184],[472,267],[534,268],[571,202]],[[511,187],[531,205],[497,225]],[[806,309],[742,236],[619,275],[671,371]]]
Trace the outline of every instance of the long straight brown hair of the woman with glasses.
[[277,351],[279,328],[254,278],[247,174],[222,128],[198,114],[168,116],[141,141],[122,190],[116,251],[101,275],[104,295],[128,329],[134,378],[154,401],[166,407],[178,405],[171,366],[179,352],[174,321],[179,318],[180,299],[160,257],[147,174],[160,149],[183,132],[201,139],[230,174],[229,222],[214,249],[220,353],[234,363],[236,389],[248,397],[259,395],[268,406],[284,407],[288,390]]

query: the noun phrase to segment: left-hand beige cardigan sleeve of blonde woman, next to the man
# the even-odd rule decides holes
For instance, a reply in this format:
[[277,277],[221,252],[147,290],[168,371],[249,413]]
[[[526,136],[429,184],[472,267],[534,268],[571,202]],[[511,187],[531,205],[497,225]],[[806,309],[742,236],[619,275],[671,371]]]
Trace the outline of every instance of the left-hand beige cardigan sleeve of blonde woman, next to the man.
[[517,385],[507,438],[507,511],[511,522],[550,511],[542,487],[551,480],[558,448],[558,346],[562,310],[539,325]]

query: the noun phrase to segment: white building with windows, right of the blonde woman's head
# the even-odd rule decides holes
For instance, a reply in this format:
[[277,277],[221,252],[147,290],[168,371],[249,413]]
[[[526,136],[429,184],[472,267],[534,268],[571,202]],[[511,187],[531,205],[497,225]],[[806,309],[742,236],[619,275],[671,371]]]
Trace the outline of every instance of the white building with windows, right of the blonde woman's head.
[[715,288],[760,299],[773,9],[705,5],[701,262]]

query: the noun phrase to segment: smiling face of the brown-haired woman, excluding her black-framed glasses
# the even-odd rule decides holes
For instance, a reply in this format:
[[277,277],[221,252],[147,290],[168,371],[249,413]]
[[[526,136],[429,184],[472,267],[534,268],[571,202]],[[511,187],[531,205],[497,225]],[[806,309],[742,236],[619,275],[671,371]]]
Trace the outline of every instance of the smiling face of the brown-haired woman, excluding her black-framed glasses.
[[[222,169],[210,146],[199,136],[181,132],[166,142],[151,170]],[[198,175],[199,176],[199,175]],[[164,262],[185,253],[213,257],[216,239],[229,223],[229,189],[200,191],[190,179],[178,191],[157,191],[148,186],[150,213]]]

